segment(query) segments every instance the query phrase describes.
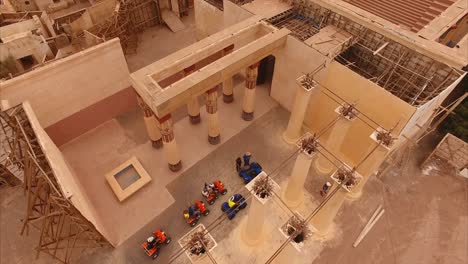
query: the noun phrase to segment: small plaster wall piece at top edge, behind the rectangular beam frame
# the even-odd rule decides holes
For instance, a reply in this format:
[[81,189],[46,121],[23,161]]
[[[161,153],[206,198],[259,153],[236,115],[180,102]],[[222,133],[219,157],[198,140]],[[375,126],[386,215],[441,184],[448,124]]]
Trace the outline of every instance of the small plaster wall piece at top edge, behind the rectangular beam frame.
[[224,28],[224,14],[204,0],[195,0],[195,34],[204,39]]

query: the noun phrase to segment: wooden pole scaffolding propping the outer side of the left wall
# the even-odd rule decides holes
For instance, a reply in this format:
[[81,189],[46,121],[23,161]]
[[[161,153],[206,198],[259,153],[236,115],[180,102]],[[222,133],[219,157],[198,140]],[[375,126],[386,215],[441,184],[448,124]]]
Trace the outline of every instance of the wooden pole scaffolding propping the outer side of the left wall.
[[9,129],[2,133],[9,147],[5,152],[23,172],[27,206],[21,234],[33,228],[40,232],[36,257],[43,252],[70,263],[79,249],[109,245],[63,193],[22,105],[1,112],[0,122]]

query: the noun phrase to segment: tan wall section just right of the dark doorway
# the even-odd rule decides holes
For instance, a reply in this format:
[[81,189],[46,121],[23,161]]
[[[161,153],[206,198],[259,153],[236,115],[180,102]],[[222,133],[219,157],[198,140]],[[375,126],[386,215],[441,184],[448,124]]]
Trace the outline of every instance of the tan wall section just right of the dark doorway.
[[271,97],[291,111],[296,95],[296,79],[322,65],[325,57],[291,36],[288,36],[285,47],[274,52],[273,56],[276,61]]

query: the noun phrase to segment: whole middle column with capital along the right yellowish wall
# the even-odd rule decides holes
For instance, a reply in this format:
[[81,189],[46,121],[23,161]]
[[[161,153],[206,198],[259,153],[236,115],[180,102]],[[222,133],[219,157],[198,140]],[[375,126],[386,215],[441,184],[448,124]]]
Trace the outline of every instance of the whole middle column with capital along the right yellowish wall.
[[[349,112],[343,112],[345,109],[349,109],[350,107],[351,110]],[[324,147],[328,152],[336,156],[340,151],[349,128],[357,116],[357,112],[353,110],[353,106],[344,105],[337,107],[335,109],[335,113],[339,119],[331,128],[331,132],[328,135]],[[323,150],[323,153],[326,155],[327,151]],[[330,174],[336,170],[336,167],[325,155],[323,155],[323,153],[315,160],[315,168],[317,169],[317,172],[321,174]]]

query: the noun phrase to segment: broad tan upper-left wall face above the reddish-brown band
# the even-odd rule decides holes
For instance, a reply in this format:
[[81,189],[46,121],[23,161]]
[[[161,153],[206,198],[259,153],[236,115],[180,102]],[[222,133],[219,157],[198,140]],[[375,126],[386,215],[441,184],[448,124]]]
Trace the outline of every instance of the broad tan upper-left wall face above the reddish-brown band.
[[129,86],[120,42],[113,39],[3,82],[0,98],[11,106],[30,101],[48,127]]

